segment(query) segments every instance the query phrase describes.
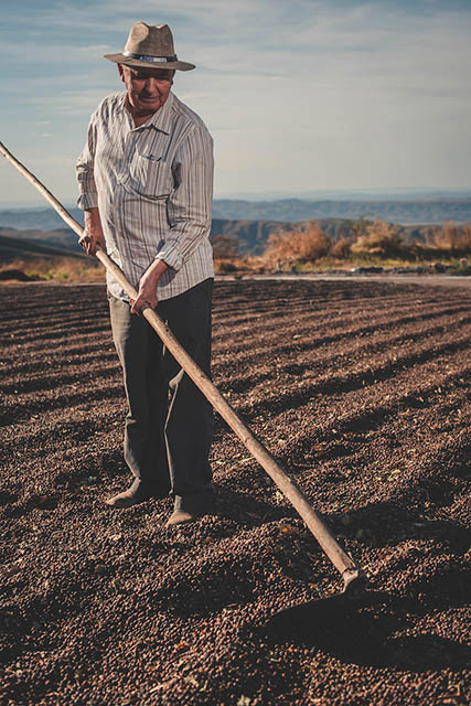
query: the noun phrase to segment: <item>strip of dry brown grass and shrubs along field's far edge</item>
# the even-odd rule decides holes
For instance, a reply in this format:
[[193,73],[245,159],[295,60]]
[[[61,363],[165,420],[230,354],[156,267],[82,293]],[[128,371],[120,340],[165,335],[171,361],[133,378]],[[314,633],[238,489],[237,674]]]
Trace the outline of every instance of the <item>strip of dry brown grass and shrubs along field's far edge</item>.
[[[263,255],[239,255],[233,236],[215,239],[215,271],[218,275],[350,269],[365,265],[400,267],[438,261],[459,271],[471,267],[471,224],[445,223],[431,231],[427,244],[405,243],[397,228],[384,221],[360,220],[352,224],[352,237],[333,243],[319,224],[300,224],[295,231],[271,234]],[[97,260],[78,257],[17,258],[0,265],[29,277],[54,281],[97,281],[105,270]]]

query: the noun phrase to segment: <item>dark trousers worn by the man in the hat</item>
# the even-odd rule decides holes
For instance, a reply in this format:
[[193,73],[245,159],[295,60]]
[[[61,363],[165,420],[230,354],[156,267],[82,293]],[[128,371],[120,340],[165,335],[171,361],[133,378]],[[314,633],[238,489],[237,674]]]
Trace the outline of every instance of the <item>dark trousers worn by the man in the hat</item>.
[[[210,375],[213,280],[159,302],[158,313]],[[129,304],[109,296],[113,338],[122,366],[129,411],[125,460],[142,488],[170,490],[175,509],[204,512],[214,499],[208,462],[213,409],[158,334]]]

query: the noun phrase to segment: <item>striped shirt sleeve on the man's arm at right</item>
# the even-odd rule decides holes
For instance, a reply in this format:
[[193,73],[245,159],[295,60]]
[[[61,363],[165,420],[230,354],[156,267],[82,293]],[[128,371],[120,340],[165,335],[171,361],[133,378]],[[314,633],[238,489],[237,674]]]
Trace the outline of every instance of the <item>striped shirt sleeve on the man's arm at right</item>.
[[203,127],[190,132],[175,152],[174,189],[167,202],[169,231],[156,258],[179,270],[207,238],[213,202],[213,139]]

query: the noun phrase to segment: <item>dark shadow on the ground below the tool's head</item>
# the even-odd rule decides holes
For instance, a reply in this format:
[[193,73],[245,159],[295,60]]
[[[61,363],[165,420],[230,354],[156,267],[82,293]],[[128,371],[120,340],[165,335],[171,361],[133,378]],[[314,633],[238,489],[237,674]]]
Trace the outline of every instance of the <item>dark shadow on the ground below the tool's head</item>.
[[432,632],[410,634],[424,608],[414,600],[379,591],[360,599],[334,596],[275,614],[260,633],[274,643],[313,648],[344,664],[406,672],[459,672],[471,649]]

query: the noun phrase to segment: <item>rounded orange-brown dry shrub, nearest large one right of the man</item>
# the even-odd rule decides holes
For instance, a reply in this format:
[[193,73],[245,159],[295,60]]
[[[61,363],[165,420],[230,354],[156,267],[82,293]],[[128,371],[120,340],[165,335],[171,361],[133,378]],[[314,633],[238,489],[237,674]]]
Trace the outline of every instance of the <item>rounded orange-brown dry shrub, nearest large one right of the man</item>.
[[331,239],[314,222],[302,223],[296,231],[281,229],[272,233],[264,253],[264,260],[276,263],[307,263],[327,255]]

